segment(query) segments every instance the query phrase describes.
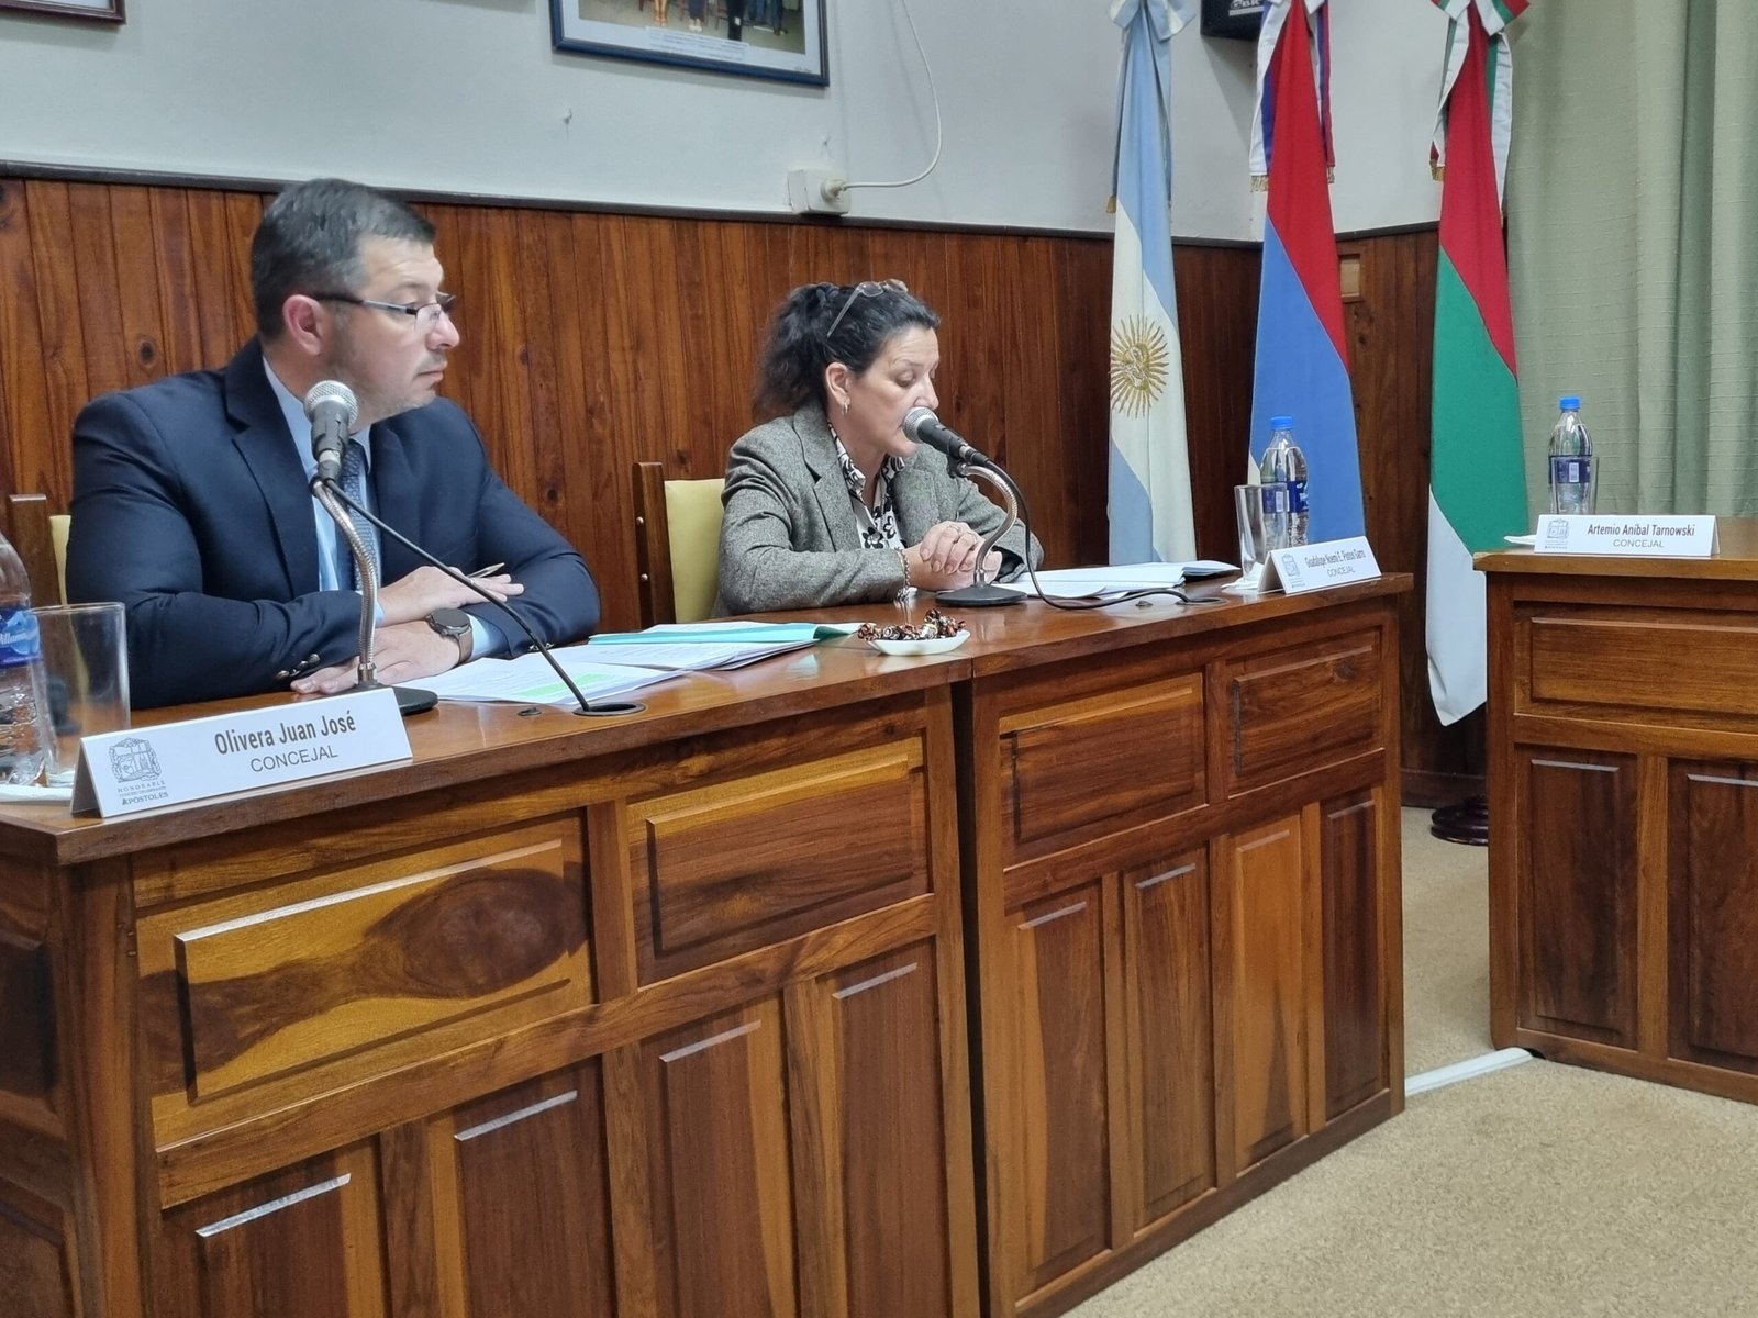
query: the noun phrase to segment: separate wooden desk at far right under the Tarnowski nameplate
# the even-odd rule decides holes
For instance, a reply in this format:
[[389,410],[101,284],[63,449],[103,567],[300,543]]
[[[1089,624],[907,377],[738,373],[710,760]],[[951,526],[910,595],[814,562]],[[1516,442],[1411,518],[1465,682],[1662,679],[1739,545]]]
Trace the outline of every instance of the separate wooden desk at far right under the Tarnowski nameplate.
[[1758,1102],[1758,524],[1486,554],[1491,1033]]

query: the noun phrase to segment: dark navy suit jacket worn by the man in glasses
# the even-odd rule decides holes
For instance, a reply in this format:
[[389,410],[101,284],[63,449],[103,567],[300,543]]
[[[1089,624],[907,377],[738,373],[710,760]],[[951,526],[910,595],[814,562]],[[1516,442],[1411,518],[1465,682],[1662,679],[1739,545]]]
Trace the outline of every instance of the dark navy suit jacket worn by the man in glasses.
[[[513,608],[543,640],[598,626],[585,562],[494,474],[455,404],[373,427],[373,499],[441,562],[505,562],[526,587]],[[389,536],[380,557],[385,582],[420,566]],[[79,413],[67,594],[127,606],[137,708],[285,691],[278,673],[359,652],[360,596],[318,589],[311,492],[255,341],[223,371],[105,394]],[[468,612],[527,648],[490,605]]]

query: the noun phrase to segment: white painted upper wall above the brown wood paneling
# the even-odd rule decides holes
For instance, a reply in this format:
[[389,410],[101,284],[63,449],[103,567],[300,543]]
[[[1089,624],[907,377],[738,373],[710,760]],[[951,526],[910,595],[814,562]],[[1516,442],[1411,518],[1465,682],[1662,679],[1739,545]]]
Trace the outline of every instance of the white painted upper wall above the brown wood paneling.
[[[854,213],[1109,232],[1106,0],[911,5],[944,158]],[[900,0],[828,7],[828,88],[554,53],[547,0],[134,0],[121,28],[0,12],[0,160],[782,211],[789,167],[895,179],[933,148]],[[1443,19],[1419,0],[1333,9],[1336,223],[1431,221]],[[1180,237],[1259,232],[1252,58],[1195,25],[1174,39]]]

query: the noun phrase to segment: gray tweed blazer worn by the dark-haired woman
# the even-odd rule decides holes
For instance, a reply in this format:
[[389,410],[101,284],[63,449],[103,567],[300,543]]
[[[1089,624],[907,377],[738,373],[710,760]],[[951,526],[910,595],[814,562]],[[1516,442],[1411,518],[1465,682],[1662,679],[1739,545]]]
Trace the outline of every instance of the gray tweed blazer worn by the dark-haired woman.
[[[946,459],[919,448],[891,480],[897,529],[916,545],[935,522],[963,522],[979,534],[1006,513],[983,492],[946,473]],[[807,404],[747,431],[726,459],[721,494],[721,592],[716,613],[828,608],[890,599],[904,589],[897,550],[861,548],[837,441],[825,413]],[[997,548],[1002,576],[1025,562],[1025,527],[1014,525]],[[1032,562],[1044,557],[1032,541]]]

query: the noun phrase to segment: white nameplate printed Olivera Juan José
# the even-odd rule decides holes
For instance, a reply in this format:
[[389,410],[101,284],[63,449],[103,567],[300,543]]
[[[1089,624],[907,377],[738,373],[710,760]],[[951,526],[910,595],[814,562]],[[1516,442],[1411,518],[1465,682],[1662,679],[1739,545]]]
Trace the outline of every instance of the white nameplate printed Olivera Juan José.
[[88,736],[74,814],[125,815],[410,757],[390,687]]

